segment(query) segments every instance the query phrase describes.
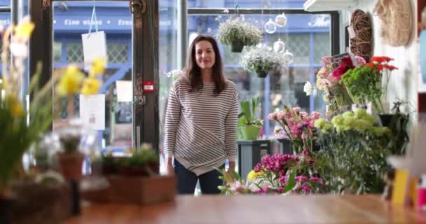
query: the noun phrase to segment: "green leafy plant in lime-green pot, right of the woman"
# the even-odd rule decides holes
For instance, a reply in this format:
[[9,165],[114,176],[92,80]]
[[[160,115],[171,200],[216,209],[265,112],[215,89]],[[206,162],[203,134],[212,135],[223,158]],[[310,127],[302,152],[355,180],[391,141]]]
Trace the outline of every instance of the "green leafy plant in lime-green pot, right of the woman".
[[240,128],[242,138],[245,140],[256,140],[261,132],[263,120],[254,118],[259,98],[253,98],[252,104],[249,100],[241,102],[241,113],[238,115],[238,127]]

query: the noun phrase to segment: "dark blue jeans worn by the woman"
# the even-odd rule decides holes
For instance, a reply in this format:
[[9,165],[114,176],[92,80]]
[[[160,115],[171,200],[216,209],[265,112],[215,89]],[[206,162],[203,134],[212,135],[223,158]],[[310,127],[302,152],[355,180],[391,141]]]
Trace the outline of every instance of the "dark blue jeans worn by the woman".
[[[223,168],[224,166],[219,167],[219,169]],[[179,195],[193,195],[197,180],[200,180],[200,188],[203,195],[219,194],[221,191],[217,187],[224,185],[224,181],[219,179],[221,173],[216,169],[197,176],[194,172],[186,169],[184,165],[181,165],[180,162],[174,160],[174,173],[177,176],[177,192]]]

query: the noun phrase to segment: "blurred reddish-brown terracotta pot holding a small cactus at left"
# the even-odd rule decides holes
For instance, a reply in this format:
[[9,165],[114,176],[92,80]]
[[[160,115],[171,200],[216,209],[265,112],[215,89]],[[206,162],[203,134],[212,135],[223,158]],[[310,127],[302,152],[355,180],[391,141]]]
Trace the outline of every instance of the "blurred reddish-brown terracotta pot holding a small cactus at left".
[[56,153],[56,160],[64,179],[78,181],[83,177],[83,153]]

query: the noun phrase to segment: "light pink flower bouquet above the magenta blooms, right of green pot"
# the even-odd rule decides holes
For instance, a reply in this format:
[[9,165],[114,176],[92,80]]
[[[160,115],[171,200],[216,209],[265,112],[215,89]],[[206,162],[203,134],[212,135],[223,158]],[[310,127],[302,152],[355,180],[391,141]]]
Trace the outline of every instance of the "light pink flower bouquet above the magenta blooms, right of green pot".
[[301,153],[303,149],[312,151],[312,140],[314,137],[314,124],[321,117],[321,113],[316,111],[310,115],[300,111],[300,107],[289,108],[284,106],[284,110],[269,114],[269,120],[275,120],[282,126],[282,130],[290,139],[293,151]]

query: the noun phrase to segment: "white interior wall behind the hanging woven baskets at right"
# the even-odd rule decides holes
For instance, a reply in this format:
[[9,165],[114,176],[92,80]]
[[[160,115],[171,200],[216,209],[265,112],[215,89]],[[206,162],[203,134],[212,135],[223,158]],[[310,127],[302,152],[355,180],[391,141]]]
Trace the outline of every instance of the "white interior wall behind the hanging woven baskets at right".
[[[417,14],[417,0],[411,0],[413,12],[413,32],[407,45],[392,47],[383,43],[380,37],[381,22],[373,10],[377,0],[359,1],[358,8],[370,15],[373,20],[373,55],[389,56],[394,58],[392,65],[399,69],[392,71],[388,87],[387,99],[390,99],[390,105],[398,99],[410,102],[410,106],[404,107],[404,112],[412,112],[418,109],[418,43],[417,43],[417,23],[415,22]],[[343,13],[343,23],[348,23],[350,13]],[[417,116],[412,116],[417,118]],[[412,120],[415,122],[415,119]]]

